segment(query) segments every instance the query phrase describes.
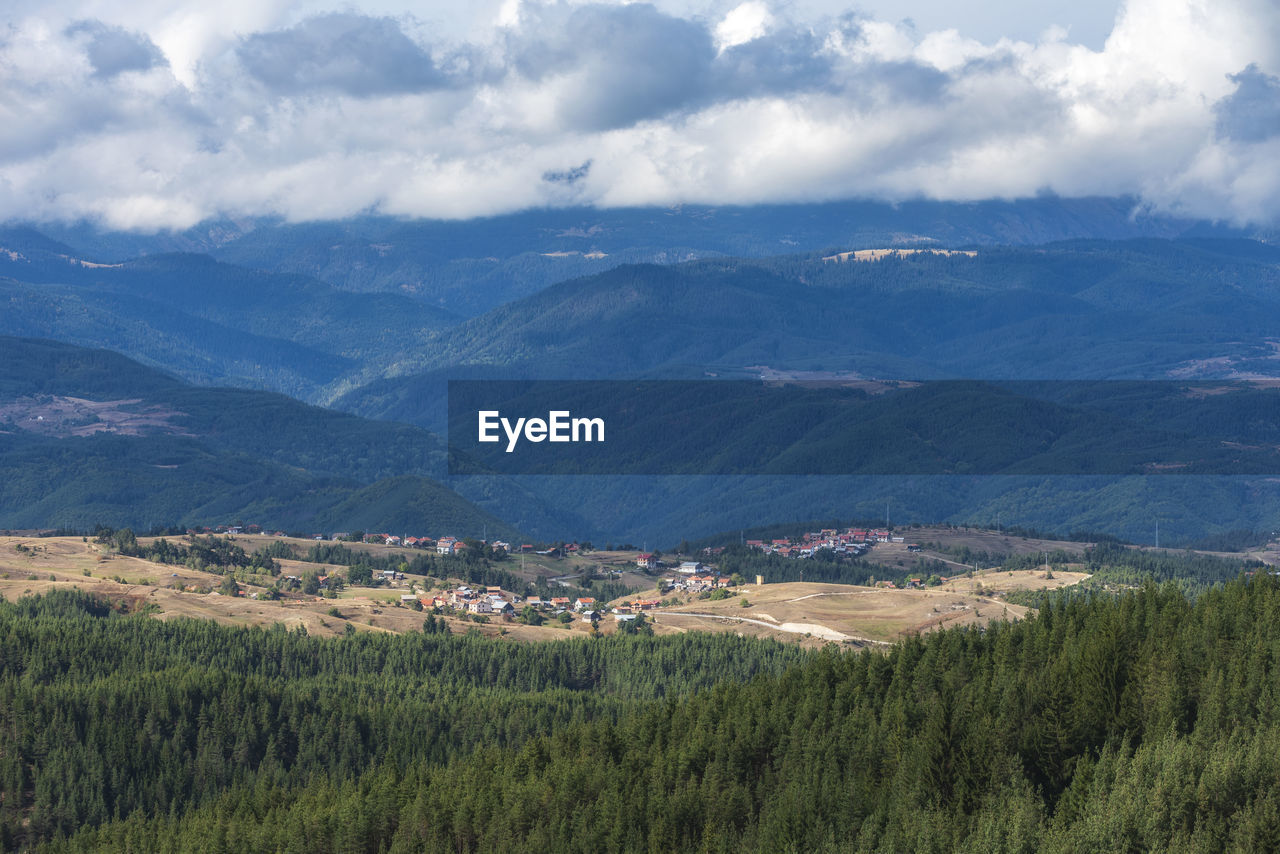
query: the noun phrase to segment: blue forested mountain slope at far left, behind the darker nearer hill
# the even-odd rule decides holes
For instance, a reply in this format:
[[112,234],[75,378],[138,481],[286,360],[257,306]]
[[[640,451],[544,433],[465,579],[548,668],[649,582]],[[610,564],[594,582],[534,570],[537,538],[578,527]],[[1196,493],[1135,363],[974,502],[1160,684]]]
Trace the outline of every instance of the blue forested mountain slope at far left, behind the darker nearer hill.
[[0,230],[0,334],[109,347],[193,382],[320,399],[458,320],[403,294],[353,294],[202,255],[101,264],[72,252]]

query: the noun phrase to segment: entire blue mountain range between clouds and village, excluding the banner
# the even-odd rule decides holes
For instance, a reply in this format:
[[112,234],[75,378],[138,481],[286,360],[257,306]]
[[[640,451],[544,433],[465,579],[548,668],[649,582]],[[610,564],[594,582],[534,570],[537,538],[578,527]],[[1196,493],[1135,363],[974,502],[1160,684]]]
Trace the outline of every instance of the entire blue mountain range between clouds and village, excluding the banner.
[[[93,516],[133,506],[143,522],[252,511],[282,525],[394,528],[403,517],[393,506],[439,498],[552,538],[882,515],[886,499],[899,519],[1001,517],[1139,539],[1153,507],[1170,529],[1196,534],[1274,526],[1280,502],[1257,478],[451,479],[433,435],[445,429],[447,380],[465,378],[1276,376],[1280,251],[1248,237],[1270,238],[1143,216],[1126,200],[1052,198],[228,222],[150,236],[13,225],[0,229],[0,333],[123,353],[157,369],[142,382],[142,365],[119,367],[131,383],[168,385],[110,399],[204,420],[74,442],[5,434],[5,474],[18,487],[0,524],[110,522],[120,516]],[[32,347],[8,355],[22,382],[0,406],[40,394],[108,399],[69,380],[36,391],[61,369],[36,382]],[[1176,403],[1139,398],[1091,406],[1094,417],[1148,405],[1179,415]],[[1203,407],[1184,415],[1193,410],[1207,417]],[[1243,417],[1234,412],[1215,424]],[[228,414],[257,426],[232,428]],[[1254,421],[1244,433],[1265,430]],[[92,465],[73,465],[69,447],[88,448]],[[198,487],[160,480],[175,458],[206,460],[183,471]],[[122,492],[129,466],[146,476]],[[215,494],[225,498],[196,501]],[[406,512],[403,521],[421,517]]]

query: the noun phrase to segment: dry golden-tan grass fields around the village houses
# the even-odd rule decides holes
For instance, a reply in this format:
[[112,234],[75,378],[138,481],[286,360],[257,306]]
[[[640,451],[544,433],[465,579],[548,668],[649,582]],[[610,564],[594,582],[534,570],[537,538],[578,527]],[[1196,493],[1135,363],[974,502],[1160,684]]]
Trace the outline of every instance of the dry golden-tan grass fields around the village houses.
[[[238,536],[247,551],[261,545],[265,536]],[[289,540],[310,548],[310,540]],[[351,548],[371,554],[403,553],[385,545]],[[888,551],[884,545],[878,549]],[[914,556],[913,556],[914,557]],[[596,553],[585,558],[525,560],[525,575],[564,576],[599,571],[603,567],[622,572],[634,586],[650,589],[653,580],[626,568],[634,566],[634,554],[626,552]],[[282,572],[328,572],[337,567],[302,561],[280,561]],[[518,565],[512,568],[517,568]],[[634,577],[631,577],[634,576]],[[792,640],[805,644],[826,641],[887,643],[905,634],[931,631],[941,626],[986,624],[991,620],[1016,620],[1027,613],[1020,606],[1000,602],[1000,594],[1014,589],[1046,589],[1075,584],[1087,577],[1082,572],[979,572],[974,577],[955,579],[938,588],[924,590],[888,590],[838,584],[769,584],[746,585],[733,590],[728,599],[682,600],[668,597],[668,607],[652,612],[655,630],[673,631],[737,631]],[[393,588],[347,588],[335,599],[302,597],[271,602],[250,598],[265,586],[242,584],[243,598],[216,592],[223,576],[180,566],[152,563],[111,553],[106,545],[78,536],[0,536],[0,594],[14,599],[26,594],[45,593],[56,586],[77,586],[111,599],[124,599],[131,609],[151,606],[160,620],[193,617],[230,625],[269,626],[283,624],[293,629],[305,626],[311,634],[334,635],[353,626],[360,631],[417,631],[425,613],[399,602],[412,589],[425,590],[434,583],[408,576]],[[264,579],[265,581],[265,579]],[[748,607],[741,600],[746,598]],[[449,617],[452,631],[480,631],[506,635],[516,640],[549,640],[590,631],[575,620],[563,626],[525,626],[493,620],[475,624]],[[613,618],[600,622],[600,631],[617,630]]]

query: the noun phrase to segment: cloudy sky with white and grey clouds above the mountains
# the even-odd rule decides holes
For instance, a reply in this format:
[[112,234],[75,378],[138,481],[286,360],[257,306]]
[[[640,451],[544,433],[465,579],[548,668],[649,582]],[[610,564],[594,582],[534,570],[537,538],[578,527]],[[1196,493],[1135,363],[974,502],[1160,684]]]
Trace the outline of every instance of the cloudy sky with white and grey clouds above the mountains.
[[1280,218],[1275,0],[9,0],[0,220],[1133,196]]

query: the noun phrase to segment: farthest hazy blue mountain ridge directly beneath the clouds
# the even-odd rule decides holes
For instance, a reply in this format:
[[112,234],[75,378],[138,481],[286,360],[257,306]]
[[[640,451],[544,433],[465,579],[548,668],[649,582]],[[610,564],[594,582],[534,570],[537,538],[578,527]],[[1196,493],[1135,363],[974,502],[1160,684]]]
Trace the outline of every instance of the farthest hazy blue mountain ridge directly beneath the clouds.
[[38,224],[36,229],[95,261],[200,252],[251,269],[314,277],[346,291],[407,294],[467,316],[620,264],[764,257],[833,247],[1248,234],[1153,215],[1133,198],[1106,197],[567,207],[461,222],[239,219],[156,234],[101,232],[83,224]]

